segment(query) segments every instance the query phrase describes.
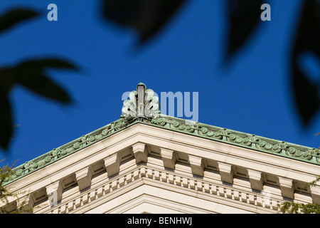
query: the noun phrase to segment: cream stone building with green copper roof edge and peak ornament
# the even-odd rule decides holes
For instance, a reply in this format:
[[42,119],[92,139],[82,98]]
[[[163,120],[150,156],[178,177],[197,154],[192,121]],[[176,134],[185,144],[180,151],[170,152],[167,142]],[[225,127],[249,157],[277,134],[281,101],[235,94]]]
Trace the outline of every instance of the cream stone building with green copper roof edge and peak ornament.
[[[318,150],[157,115],[139,84],[121,119],[15,168],[36,214],[277,213],[320,204]],[[17,207],[12,199],[10,210]]]

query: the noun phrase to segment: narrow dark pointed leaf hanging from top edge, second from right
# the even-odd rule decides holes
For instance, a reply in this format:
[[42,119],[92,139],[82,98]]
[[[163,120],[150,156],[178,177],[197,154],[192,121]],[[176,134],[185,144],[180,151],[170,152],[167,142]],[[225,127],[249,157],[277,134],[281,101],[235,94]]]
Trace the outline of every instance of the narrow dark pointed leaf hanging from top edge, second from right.
[[262,0],[228,0],[227,58],[238,51],[260,21]]

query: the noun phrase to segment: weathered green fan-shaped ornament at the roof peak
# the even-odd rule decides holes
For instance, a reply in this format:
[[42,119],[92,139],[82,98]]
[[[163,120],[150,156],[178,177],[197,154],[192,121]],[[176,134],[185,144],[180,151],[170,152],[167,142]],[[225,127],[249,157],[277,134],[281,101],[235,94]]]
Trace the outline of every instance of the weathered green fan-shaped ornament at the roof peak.
[[122,116],[129,123],[135,120],[149,121],[159,115],[159,98],[154,90],[147,89],[144,83],[137,85],[137,90],[129,93],[129,99],[124,100]]

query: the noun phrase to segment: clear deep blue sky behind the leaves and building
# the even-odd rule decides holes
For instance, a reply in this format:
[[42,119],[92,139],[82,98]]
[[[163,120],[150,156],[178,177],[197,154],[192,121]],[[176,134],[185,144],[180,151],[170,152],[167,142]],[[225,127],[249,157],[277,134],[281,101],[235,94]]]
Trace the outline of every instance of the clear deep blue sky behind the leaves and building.
[[[47,6],[58,6],[58,21]],[[200,123],[244,133],[320,146],[320,116],[303,128],[292,98],[289,48],[302,1],[273,0],[271,21],[262,22],[227,68],[225,1],[193,0],[159,36],[135,48],[132,31],[102,19],[101,1],[1,1],[0,13],[30,6],[43,16],[0,36],[0,67],[26,58],[59,57],[81,71],[48,73],[74,103],[60,105],[16,87],[11,93],[14,138],[10,165],[32,160],[120,118],[122,93],[143,82],[156,93],[198,92]],[[5,165],[5,164],[3,164]]]

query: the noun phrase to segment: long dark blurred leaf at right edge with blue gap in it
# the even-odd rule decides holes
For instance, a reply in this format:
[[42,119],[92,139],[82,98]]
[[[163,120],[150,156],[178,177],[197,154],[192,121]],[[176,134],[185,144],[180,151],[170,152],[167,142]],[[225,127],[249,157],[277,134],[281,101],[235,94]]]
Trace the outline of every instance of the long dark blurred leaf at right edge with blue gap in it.
[[294,95],[304,125],[320,108],[319,86],[312,84],[299,68],[299,56],[311,51],[320,57],[320,1],[306,0],[297,27],[292,53]]

